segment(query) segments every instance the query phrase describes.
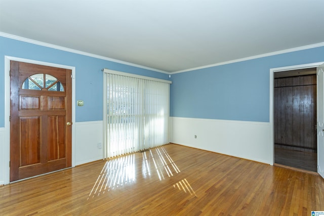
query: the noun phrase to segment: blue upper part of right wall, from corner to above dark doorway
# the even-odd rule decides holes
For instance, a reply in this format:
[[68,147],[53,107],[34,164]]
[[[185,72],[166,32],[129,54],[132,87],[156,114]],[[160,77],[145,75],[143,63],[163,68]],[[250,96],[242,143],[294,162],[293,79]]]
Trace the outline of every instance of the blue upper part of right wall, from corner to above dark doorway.
[[324,47],[171,76],[170,115],[269,122],[270,68],[324,62]]

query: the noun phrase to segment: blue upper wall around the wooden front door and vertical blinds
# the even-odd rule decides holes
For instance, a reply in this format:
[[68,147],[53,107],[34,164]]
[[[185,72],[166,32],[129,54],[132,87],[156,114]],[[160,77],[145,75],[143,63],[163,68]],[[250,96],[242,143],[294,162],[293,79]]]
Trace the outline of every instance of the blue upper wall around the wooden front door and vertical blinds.
[[38,46],[0,36],[0,127],[5,126],[5,56],[75,67],[75,99],[85,101],[84,106],[76,106],[75,108],[75,120],[77,122],[102,120],[102,68],[160,79],[169,79],[165,73]]

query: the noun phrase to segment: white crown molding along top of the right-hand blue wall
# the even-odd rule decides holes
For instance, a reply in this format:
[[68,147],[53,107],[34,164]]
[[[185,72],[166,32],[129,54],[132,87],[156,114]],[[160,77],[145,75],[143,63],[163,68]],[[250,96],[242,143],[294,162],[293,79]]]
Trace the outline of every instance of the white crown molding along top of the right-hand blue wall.
[[[174,72],[171,72],[170,74],[183,73],[183,72],[188,72],[188,71],[192,71],[192,70],[210,68],[210,67],[215,67],[215,66],[220,66],[220,65],[226,65],[226,64],[236,63],[236,62],[248,61],[248,60],[252,60],[252,59],[258,59],[258,58],[263,58],[263,57],[268,57],[268,56],[291,53],[291,52],[307,50],[307,49],[323,47],[323,46],[324,46],[324,42],[320,42],[318,44],[307,45],[307,46],[303,46],[303,47],[297,47],[297,48],[292,48],[292,49],[287,49],[287,50],[281,50],[281,51],[276,51],[276,52],[271,52],[271,53],[265,53],[265,54],[256,55],[256,56],[250,56],[250,57],[241,58],[241,59],[230,60],[230,61],[226,61],[226,62],[220,62],[220,63],[216,63],[216,64],[210,64],[210,65],[205,65],[205,66],[200,66],[200,67],[194,67],[194,68],[174,71]],[[295,69],[292,69],[292,70],[295,70]]]

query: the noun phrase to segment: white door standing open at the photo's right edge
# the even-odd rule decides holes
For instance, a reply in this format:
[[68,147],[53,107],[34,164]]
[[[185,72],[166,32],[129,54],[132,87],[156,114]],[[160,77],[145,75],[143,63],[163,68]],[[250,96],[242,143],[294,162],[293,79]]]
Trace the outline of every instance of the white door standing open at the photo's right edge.
[[317,67],[317,172],[324,178],[324,64]]

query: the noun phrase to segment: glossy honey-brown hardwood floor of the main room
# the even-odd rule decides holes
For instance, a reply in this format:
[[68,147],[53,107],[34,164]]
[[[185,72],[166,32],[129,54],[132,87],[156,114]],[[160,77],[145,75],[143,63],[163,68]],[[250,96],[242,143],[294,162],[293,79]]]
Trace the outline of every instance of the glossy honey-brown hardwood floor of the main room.
[[324,179],[169,144],[0,187],[0,215],[310,215]]

